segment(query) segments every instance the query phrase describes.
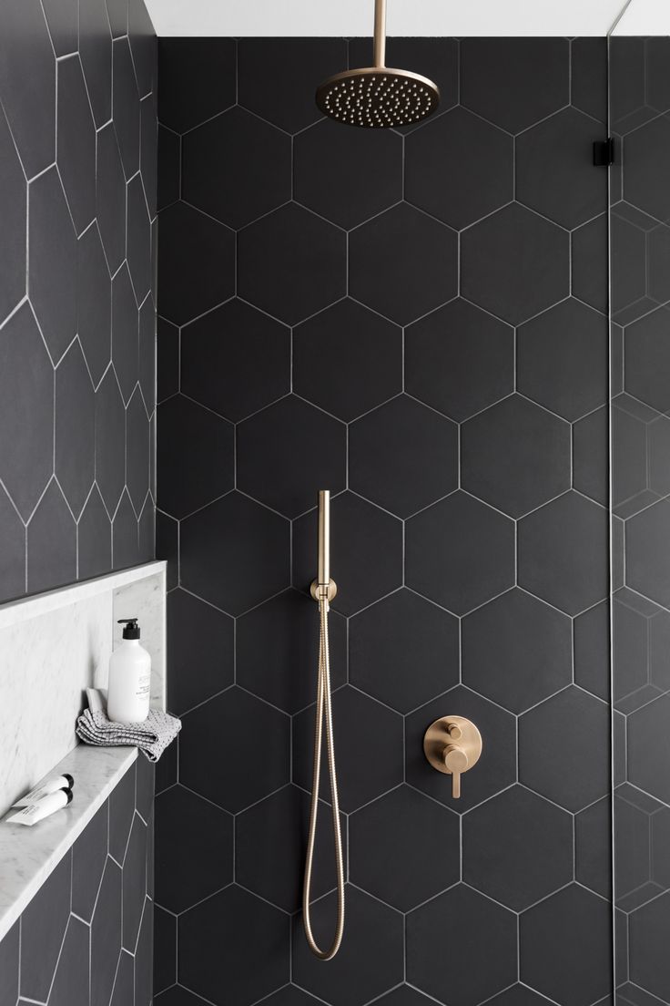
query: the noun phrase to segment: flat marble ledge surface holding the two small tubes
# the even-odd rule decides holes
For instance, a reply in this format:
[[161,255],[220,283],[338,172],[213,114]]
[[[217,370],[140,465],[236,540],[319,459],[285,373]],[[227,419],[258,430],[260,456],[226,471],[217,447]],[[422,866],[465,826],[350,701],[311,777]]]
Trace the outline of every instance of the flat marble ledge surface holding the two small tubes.
[[64,772],[74,777],[72,802],[66,808],[32,828],[0,821],[0,940],[138,757],[137,747],[78,744],[44,777]]

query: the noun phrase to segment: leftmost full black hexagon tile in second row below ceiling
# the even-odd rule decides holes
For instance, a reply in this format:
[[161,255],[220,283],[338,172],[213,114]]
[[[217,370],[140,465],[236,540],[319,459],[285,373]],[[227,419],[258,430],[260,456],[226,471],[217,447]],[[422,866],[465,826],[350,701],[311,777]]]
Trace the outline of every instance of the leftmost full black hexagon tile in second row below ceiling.
[[290,196],[290,139],[257,116],[235,107],[184,137],[182,198],[222,223],[243,227]]

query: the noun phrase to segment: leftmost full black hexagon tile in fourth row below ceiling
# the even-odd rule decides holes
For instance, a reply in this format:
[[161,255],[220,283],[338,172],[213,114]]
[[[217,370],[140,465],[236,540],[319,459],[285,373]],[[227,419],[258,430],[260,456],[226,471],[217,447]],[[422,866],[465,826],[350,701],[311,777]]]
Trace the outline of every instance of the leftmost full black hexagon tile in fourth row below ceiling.
[[290,333],[243,301],[230,300],[186,325],[181,389],[237,423],[290,390]]

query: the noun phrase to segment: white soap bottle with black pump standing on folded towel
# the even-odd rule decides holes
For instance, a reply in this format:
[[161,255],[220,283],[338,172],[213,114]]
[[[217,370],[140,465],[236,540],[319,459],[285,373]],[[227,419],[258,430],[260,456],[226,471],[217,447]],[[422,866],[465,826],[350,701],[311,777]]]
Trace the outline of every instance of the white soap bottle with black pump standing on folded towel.
[[141,723],[149,715],[152,658],[140,646],[137,619],[120,619],[124,642],[109,658],[107,717],[115,723]]

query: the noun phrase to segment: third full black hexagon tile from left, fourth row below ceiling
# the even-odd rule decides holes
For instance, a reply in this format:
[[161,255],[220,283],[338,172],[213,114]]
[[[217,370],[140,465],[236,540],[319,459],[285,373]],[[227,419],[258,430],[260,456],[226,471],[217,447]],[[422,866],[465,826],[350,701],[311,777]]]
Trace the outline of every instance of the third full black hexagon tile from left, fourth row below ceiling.
[[406,390],[461,422],[514,390],[514,334],[467,301],[451,301],[405,333]]

